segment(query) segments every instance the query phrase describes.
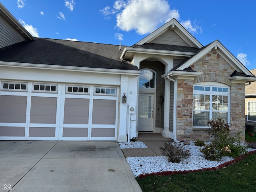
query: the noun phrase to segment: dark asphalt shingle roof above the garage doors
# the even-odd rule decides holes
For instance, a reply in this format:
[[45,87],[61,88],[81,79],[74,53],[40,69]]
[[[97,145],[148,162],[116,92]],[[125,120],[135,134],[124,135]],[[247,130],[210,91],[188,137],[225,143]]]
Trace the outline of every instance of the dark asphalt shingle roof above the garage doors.
[[0,61],[117,70],[138,70],[122,62],[124,46],[90,42],[36,38],[0,49]]

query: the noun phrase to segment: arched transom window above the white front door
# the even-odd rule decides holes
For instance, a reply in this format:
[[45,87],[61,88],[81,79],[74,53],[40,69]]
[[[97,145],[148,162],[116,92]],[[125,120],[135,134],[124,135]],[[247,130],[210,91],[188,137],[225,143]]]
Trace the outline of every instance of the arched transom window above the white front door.
[[142,69],[139,88],[156,88],[156,72],[150,69]]

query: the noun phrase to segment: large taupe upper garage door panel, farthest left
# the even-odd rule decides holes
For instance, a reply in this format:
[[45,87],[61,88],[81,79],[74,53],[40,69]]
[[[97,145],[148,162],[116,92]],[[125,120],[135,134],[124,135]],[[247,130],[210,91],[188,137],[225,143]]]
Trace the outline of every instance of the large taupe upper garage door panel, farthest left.
[[27,96],[0,96],[0,122],[25,123]]

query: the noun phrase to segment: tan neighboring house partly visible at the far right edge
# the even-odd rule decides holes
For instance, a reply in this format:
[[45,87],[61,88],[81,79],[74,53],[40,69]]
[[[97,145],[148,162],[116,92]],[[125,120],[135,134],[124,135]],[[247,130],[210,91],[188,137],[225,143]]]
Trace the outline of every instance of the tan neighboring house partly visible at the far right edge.
[[[250,72],[256,75],[256,69],[250,70]],[[247,128],[256,130],[256,82],[245,86],[245,117]]]

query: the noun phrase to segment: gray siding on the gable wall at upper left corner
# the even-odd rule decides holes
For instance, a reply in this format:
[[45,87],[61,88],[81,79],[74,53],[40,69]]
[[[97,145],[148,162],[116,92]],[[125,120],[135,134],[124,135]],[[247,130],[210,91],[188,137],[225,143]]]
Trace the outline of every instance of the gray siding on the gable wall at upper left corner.
[[7,20],[0,17],[0,48],[26,40]]

